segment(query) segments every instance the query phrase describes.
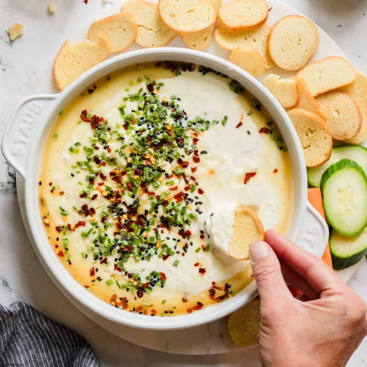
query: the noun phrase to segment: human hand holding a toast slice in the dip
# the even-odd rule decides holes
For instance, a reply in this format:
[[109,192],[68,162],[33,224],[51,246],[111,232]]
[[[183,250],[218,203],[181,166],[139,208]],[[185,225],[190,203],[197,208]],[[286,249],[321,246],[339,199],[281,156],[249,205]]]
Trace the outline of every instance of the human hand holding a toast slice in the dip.
[[[367,335],[366,303],[321,260],[274,230],[250,247],[263,367],[342,367]],[[294,298],[286,284],[303,292]]]

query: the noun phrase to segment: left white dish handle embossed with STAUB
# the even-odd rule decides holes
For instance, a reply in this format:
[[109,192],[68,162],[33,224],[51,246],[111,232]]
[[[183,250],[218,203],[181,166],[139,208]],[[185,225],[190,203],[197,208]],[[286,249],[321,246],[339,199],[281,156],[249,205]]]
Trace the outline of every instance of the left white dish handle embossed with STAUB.
[[11,114],[1,141],[6,160],[25,179],[28,152],[37,135],[37,121],[56,96],[33,95],[23,99]]

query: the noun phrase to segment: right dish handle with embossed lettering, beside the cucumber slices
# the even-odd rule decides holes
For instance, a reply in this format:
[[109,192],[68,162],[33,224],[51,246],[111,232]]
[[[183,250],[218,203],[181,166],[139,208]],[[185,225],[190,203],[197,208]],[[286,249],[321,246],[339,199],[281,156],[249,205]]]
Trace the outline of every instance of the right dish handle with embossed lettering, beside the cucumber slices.
[[328,239],[329,228],[324,218],[307,201],[306,215],[298,235],[297,246],[317,257],[322,257]]

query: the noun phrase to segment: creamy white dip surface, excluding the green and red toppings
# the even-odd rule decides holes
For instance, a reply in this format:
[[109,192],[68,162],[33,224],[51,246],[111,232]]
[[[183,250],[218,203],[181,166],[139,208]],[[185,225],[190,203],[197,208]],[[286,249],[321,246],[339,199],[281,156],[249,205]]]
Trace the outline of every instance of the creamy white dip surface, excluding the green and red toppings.
[[[150,261],[145,259],[134,261],[132,257],[127,260],[124,268],[129,274],[138,273],[142,283],[145,283],[146,277],[153,271],[164,273],[167,278],[164,287],[152,287],[152,292],[149,294],[144,292],[142,298],[137,298],[135,293],[127,292],[126,288],[120,289],[116,283],[116,280],[119,284],[129,281],[124,272],[116,270],[116,258],[119,257],[116,252],[113,255],[102,256],[103,259],[107,258],[107,264],[100,264],[101,257],[98,256],[95,260],[93,255],[92,240],[97,236],[97,229],[92,227],[90,218],[100,221],[103,211],[111,204],[103,196],[103,190],[107,185],[112,189],[119,187],[115,181],[110,180],[110,172],[114,167],[108,164],[99,166],[102,174],[107,177],[106,183],[98,187],[97,183],[101,179],[99,177],[95,179],[92,186],[101,189],[101,192],[96,190],[97,198],[90,200],[80,197],[80,190],[86,185],[85,177],[88,172],[81,169],[76,161],[86,160],[83,146],[89,147],[95,134],[90,123],[82,121],[78,124],[83,110],[87,110],[91,115],[103,116],[108,120],[111,131],[115,130],[123,135],[126,149],[130,151],[134,148],[134,134],[126,134],[118,107],[121,104],[126,105],[124,106],[126,114],[137,109],[136,101],[124,101],[123,98],[129,93],[135,94],[140,88],[146,92],[144,75],[163,83],[157,93],[160,98],[167,98],[170,101],[172,95],[178,97],[179,100],[176,99],[175,103],[185,111],[189,120],[199,116],[209,121],[218,120],[218,123],[210,124],[208,130],[197,135],[196,149],[200,162],[193,161],[194,153],[186,154],[182,150],[182,161],[189,161],[188,167],[179,166],[176,159],[171,163],[168,161],[163,163],[162,168],[167,174],[171,174],[179,167],[188,180],[193,176],[198,183],[195,192],[185,190],[191,182],[188,184],[182,178],[176,179],[176,176],[172,178],[174,183],[171,186],[166,185],[171,179],[164,175],[159,187],[152,184],[147,186],[147,191],[154,192],[155,197],[165,192],[168,192],[171,198],[181,191],[188,193],[192,201],[188,201],[187,213],[193,213],[197,218],[192,220],[189,226],[183,226],[183,229],[190,230],[190,239],[178,234],[180,227],[158,227],[156,233],[161,240],[157,242],[165,241],[174,251],[174,254],[164,261],[157,255],[152,255]],[[141,77],[142,81],[138,81],[138,77]],[[286,231],[292,206],[292,175],[288,154],[279,150],[269,134],[259,133],[261,127],[267,126],[266,117],[262,111],[254,108],[251,97],[231,91],[228,87],[229,81],[214,73],[202,75],[197,67],[193,72],[182,72],[178,76],[174,76],[170,70],[154,66],[133,67],[112,74],[108,81],[98,81],[94,92],[84,93],[63,110],[47,138],[44,150],[40,172],[42,182],[40,197],[43,202],[41,214],[47,217],[45,219],[49,227],[46,227],[46,232],[50,243],[52,246],[58,246],[55,247],[55,252],[59,252],[60,249],[64,251],[62,238],[68,238],[68,250],[63,257],[60,256],[60,259],[88,291],[109,301],[113,294],[117,294],[117,297],[127,297],[129,310],[130,306],[137,307],[143,303],[144,313],[149,305],[152,305],[150,308],[157,312],[165,310],[168,306],[172,310],[174,306],[174,314],[184,313],[196,302],[202,302],[204,306],[215,302],[207,293],[212,287],[212,282],[222,284],[222,288],[228,282],[231,285],[230,289],[235,293],[251,281],[248,261],[238,261],[226,255],[228,242],[233,233],[234,210],[237,206],[243,205],[254,210],[265,229],[274,228],[283,233]],[[227,122],[224,126],[222,119],[225,116]],[[168,120],[174,123],[174,119],[169,116]],[[187,134],[191,132],[189,130]],[[54,134],[58,134],[57,138]],[[75,146],[76,142],[80,145]],[[99,142],[97,145],[100,149],[95,152],[101,154],[102,146]],[[116,167],[120,172],[123,171],[128,159],[114,153],[121,148],[121,140],[112,138],[108,140],[108,145],[111,154],[117,157]],[[79,153],[70,152],[70,146],[79,149]],[[104,152],[106,153],[106,150]],[[195,171],[192,170],[194,167]],[[256,172],[256,175],[244,184],[248,172]],[[175,186],[176,190],[169,190]],[[199,189],[203,191],[202,194],[198,192]],[[141,188],[139,192],[140,190]],[[63,192],[63,195],[60,196],[60,192]],[[124,195],[121,200],[131,206],[136,198],[140,200],[137,214],[150,210],[152,200],[149,200],[146,192],[137,193],[134,198]],[[185,205],[185,201],[186,199],[182,205]],[[73,210],[73,207],[79,210],[84,204],[88,204],[89,208],[93,207],[95,215],[84,217]],[[60,206],[68,211],[67,216],[61,214]],[[154,235],[153,227],[157,228],[159,218],[165,215],[163,209],[162,205],[157,208],[157,221],[148,233],[148,238]],[[108,219],[111,220],[111,217]],[[55,231],[55,226],[76,224],[78,221],[86,221],[86,225],[75,231],[68,230],[65,235]],[[81,237],[81,232],[87,232],[90,228],[92,232],[87,237]],[[116,226],[113,225],[106,228],[103,234],[113,239],[116,231]],[[185,244],[186,249],[183,248]],[[159,251],[158,248],[157,253]],[[87,258],[84,258],[83,254],[86,254]],[[68,265],[69,262],[72,265]],[[98,272],[91,277],[89,270],[92,266],[98,268]],[[199,272],[200,268],[204,269],[204,274]],[[91,282],[96,277],[102,280]],[[106,284],[109,279],[112,283]],[[182,298],[187,299],[187,302],[182,302]],[[163,305],[162,300],[166,300]]]

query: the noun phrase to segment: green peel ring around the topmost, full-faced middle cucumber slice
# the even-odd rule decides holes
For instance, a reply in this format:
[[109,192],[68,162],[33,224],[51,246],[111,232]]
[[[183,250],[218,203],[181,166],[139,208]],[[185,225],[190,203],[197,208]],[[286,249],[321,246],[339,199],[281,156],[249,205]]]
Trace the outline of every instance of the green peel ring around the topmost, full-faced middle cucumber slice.
[[366,221],[365,221],[364,225],[361,228],[359,228],[358,230],[356,230],[354,232],[343,232],[343,231],[339,230],[338,228],[335,228],[335,224],[333,223],[333,216],[332,216],[332,214],[330,216],[330,213],[328,212],[327,205],[325,205],[325,202],[324,202],[324,196],[325,196],[324,195],[324,187],[325,187],[326,182],[328,181],[328,179],[330,179],[333,176],[333,174],[335,172],[338,172],[338,171],[342,170],[345,167],[353,168],[353,169],[359,171],[359,173],[363,176],[364,181],[366,182],[366,185],[367,185],[366,174],[364,173],[363,169],[359,166],[359,164],[356,163],[355,161],[350,160],[350,159],[342,159],[342,160],[338,161],[337,163],[332,164],[323,173],[323,175],[321,177],[320,188],[321,188],[321,193],[322,193],[322,196],[323,196],[323,207],[324,207],[325,217],[326,217],[327,221],[330,223],[330,225],[338,233],[340,233],[341,235],[344,235],[344,236],[351,237],[351,236],[358,235],[360,232],[363,231],[363,229],[367,226],[367,217],[366,217]]

